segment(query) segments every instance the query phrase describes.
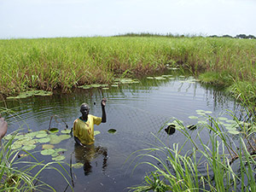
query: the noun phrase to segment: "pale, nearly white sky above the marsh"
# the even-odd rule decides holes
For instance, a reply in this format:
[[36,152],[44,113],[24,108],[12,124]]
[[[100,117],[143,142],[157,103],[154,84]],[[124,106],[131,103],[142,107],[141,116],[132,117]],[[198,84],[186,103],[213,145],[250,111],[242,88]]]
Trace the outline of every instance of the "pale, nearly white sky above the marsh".
[[252,34],[256,0],[0,0],[0,38]]

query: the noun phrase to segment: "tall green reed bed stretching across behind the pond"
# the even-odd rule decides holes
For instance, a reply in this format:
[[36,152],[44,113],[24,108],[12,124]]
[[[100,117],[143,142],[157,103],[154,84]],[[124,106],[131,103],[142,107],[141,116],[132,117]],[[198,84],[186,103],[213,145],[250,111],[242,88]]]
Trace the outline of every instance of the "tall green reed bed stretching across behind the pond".
[[[256,41],[234,38],[96,37],[0,40],[0,92],[66,91],[116,76],[188,68],[202,82],[255,80]],[[253,84],[254,86],[254,84]],[[236,87],[232,89],[236,93]],[[239,93],[236,93],[238,96]],[[254,99],[254,96],[253,96]]]

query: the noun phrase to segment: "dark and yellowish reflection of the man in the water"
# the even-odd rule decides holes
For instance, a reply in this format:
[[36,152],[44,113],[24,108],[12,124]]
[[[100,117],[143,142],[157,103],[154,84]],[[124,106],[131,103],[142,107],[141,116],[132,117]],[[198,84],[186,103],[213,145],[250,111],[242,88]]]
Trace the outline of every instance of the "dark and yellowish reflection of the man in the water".
[[[75,143],[74,153],[77,163],[84,164],[84,175],[89,175],[92,172],[91,161],[102,155],[102,172],[107,169],[108,149],[102,146],[95,146],[95,144],[86,145],[84,147]],[[97,162],[97,161],[96,161]]]

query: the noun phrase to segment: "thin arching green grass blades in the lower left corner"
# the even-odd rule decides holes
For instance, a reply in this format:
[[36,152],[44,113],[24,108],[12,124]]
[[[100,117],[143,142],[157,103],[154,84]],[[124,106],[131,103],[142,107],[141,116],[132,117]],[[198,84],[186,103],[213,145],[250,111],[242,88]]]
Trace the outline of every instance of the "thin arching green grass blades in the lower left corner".
[[[73,190],[73,187],[68,182],[68,173],[61,163],[38,161],[26,149],[23,149],[22,153],[20,153],[19,150],[12,148],[14,138],[15,135],[10,137],[9,140],[5,140],[1,148],[0,191],[55,191],[52,186],[39,179],[40,174],[46,169],[59,172],[67,182],[67,186]],[[3,154],[5,154],[8,164],[3,160]],[[27,158],[32,159],[32,161],[28,161]],[[56,165],[61,169],[56,168]],[[66,172],[67,176],[61,170]]]

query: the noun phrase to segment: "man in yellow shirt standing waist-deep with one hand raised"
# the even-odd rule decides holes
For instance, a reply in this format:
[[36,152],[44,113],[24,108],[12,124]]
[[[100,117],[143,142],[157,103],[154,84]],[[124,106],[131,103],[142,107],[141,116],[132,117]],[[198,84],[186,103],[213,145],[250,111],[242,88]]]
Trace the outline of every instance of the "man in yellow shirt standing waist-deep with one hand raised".
[[73,122],[73,136],[76,143],[81,146],[90,145],[94,143],[94,125],[100,125],[101,123],[106,123],[106,106],[107,99],[103,98],[102,105],[102,118],[96,117],[89,114],[90,107],[88,104],[83,103],[80,107],[80,112],[82,116],[75,119]]

